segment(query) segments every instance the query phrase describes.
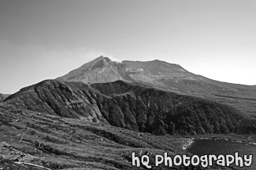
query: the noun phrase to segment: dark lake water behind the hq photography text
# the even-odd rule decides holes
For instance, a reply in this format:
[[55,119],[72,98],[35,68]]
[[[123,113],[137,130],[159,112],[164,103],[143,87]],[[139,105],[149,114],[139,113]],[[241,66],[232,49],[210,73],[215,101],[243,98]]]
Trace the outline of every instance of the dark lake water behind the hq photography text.
[[195,142],[187,148],[191,154],[197,154],[198,156],[206,154],[232,154],[235,152],[239,153],[239,156],[244,154],[253,154],[253,162],[250,167],[238,168],[237,169],[256,169],[256,145],[250,143],[234,143],[224,139],[195,139]]

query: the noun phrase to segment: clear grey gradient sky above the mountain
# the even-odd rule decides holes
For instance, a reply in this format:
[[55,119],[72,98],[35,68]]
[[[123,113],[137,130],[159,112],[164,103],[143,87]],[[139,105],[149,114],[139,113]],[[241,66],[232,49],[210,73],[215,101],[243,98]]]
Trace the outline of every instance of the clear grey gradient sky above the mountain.
[[255,0],[0,0],[0,93],[98,56],[256,85]]

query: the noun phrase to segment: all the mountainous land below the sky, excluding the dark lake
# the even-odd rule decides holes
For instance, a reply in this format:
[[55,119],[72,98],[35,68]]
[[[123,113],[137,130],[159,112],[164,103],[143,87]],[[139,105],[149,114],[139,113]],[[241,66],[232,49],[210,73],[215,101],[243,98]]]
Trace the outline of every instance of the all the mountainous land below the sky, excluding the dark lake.
[[118,63],[101,56],[0,102],[0,168],[147,169],[132,166],[132,152],[147,154],[150,165],[156,154],[190,155],[183,149],[191,139],[182,136],[254,142],[253,108],[254,87],[159,60]]

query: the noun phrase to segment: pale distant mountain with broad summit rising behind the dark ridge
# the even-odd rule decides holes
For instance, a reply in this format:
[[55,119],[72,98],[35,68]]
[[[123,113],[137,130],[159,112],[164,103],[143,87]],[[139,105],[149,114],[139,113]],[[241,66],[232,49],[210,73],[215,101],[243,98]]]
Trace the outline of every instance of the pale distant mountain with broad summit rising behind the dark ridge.
[[201,75],[192,74],[180,65],[161,60],[124,60],[117,63],[100,56],[57,80],[83,81],[85,83],[117,80],[136,82],[140,85],[151,85],[157,89],[169,90],[169,92],[228,104],[243,114],[256,118],[256,105],[254,104],[256,102],[256,86],[214,81]]

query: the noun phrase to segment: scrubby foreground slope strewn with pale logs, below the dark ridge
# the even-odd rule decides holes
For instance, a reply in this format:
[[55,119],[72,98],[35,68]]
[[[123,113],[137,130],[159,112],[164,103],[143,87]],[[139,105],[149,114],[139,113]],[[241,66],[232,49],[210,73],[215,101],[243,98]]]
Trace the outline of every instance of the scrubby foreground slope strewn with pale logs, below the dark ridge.
[[[181,149],[187,139],[132,132],[0,103],[1,169],[143,169],[132,152],[151,156]],[[161,169],[161,168],[158,168]],[[163,168],[162,168],[163,169]],[[197,168],[200,169],[200,168]]]

